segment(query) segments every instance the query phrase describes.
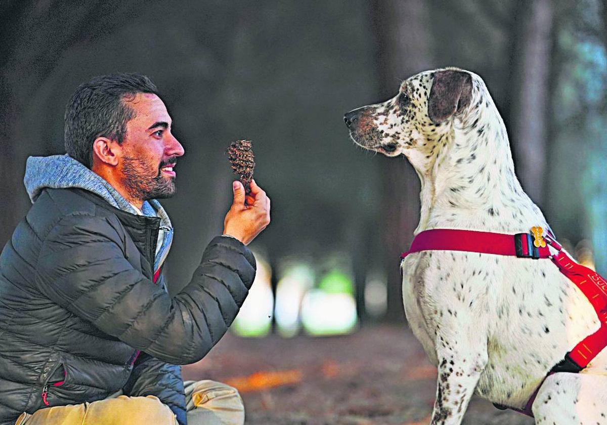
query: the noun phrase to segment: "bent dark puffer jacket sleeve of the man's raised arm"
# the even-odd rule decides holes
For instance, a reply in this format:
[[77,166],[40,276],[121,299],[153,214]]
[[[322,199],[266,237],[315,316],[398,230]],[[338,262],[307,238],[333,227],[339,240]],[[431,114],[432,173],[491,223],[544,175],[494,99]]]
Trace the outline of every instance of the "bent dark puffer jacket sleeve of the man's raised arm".
[[42,242],[36,284],[108,335],[171,364],[202,359],[236,317],[255,277],[253,253],[215,237],[173,298],[135,269],[118,219],[66,216]]

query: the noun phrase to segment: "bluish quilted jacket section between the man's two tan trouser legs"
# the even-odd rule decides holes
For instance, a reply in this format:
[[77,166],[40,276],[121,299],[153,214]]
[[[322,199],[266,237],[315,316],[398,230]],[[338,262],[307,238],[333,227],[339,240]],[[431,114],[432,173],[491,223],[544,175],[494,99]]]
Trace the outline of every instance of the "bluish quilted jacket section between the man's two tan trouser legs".
[[141,353],[123,388],[131,397],[154,395],[169,406],[180,425],[186,425],[186,398],[181,379],[181,367]]

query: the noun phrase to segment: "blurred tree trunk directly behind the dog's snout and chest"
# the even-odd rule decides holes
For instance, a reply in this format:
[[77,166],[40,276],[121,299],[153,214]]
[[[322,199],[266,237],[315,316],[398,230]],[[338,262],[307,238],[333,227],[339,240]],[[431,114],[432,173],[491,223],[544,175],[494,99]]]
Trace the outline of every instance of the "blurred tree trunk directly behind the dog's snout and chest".
[[[371,18],[377,37],[382,98],[396,95],[404,78],[429,69],[429,22],[423,0],[374,0]],[[384,161],[384,253],[388,270],[388,321],[402,321],[402,279],[398,256],[407,250],[419,222],[419,178],[404,158]]]

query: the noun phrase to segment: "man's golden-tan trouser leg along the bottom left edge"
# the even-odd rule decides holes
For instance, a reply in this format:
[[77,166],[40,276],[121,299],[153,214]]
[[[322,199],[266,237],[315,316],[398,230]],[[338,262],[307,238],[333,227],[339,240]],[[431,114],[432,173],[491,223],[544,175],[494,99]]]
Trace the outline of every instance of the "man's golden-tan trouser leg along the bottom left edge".
[[38,410],[24,425],[175,425],[175,415],[155,396],[127,397],[93,401],[93,403],[48,407]]

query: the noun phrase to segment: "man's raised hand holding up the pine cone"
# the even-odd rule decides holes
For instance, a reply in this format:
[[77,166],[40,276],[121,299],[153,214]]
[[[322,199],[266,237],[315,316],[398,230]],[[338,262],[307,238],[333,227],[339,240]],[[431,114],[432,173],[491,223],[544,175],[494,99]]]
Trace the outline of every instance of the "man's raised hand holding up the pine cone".
[[234,203],[223,220],[223,234],[234,236],[248,245],[270,224],[270,198],[251,180],[251,194],[245,197],[245,188],[238,180],[232,184]]

